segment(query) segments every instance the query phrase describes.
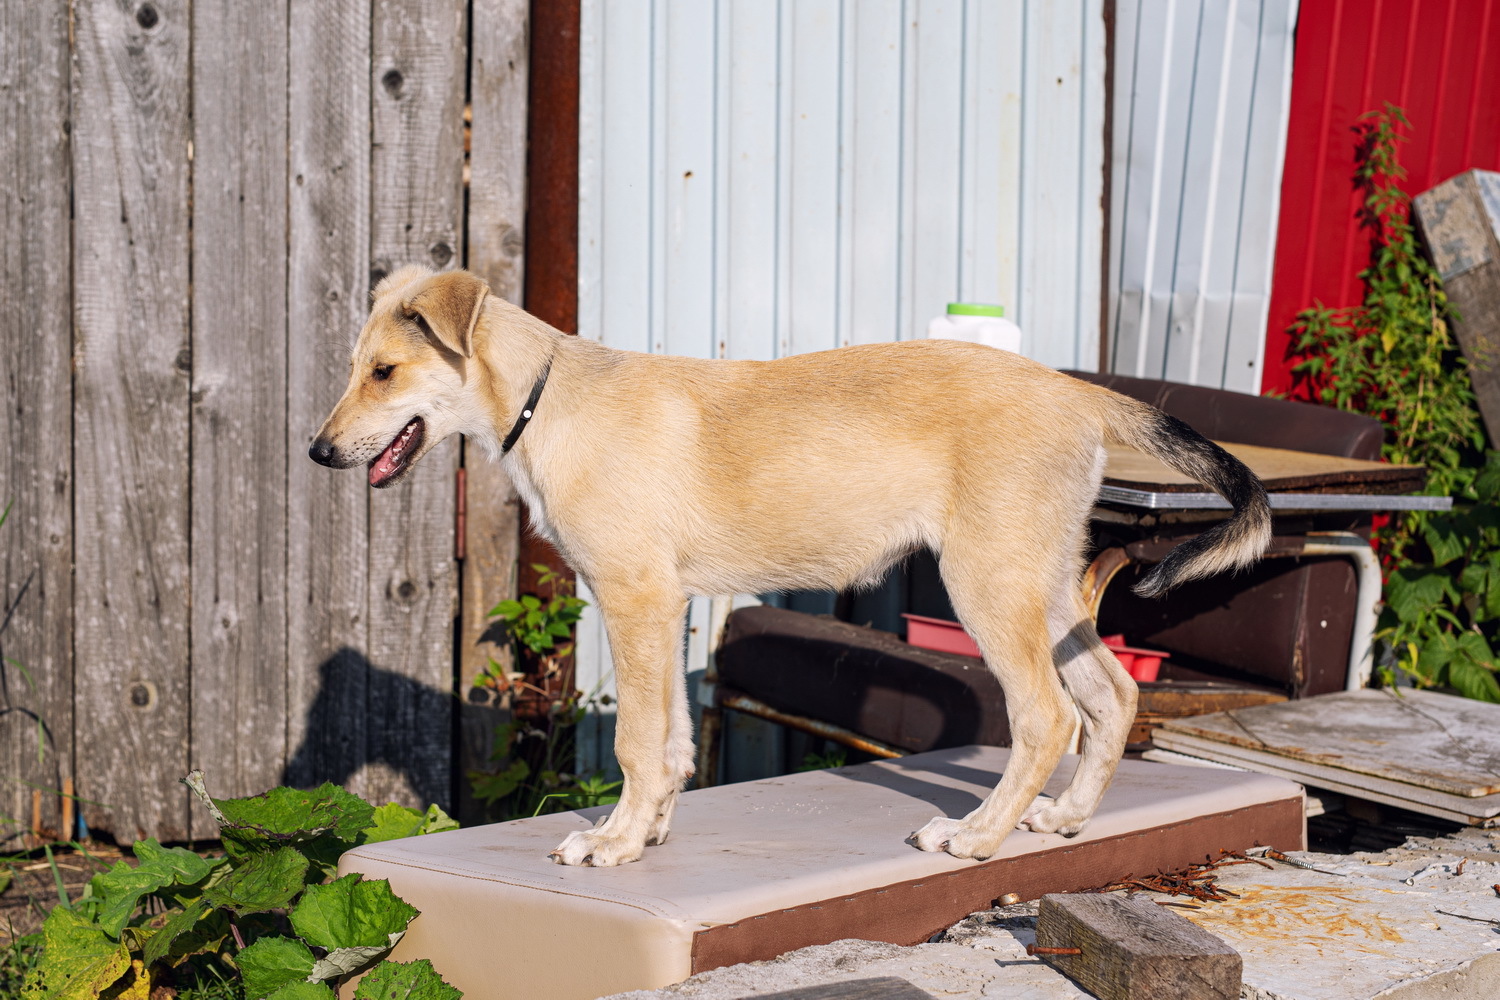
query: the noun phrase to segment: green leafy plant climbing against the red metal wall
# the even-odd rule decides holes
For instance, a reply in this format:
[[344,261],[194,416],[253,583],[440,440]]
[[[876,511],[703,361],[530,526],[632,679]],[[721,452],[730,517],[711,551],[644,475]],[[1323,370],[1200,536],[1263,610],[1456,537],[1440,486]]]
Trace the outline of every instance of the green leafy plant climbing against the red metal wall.
[[1400,108],[1359,118],[1354,184],[1370,234],[1359,306],[1302,312],[1292,330],[1296,384],[1317,402],[1377,417],[1383,457],[1425,465],[1426,493],[1454,496],[1448,514],[1408,513],[1378,532],[1388,570],[1378,639],[1390,666],[1420,687],[1500,702],[1491,649],[1500,628],[1500,460],[1485,433],[1468,361],[1449,334],[1450,309],[1401,189]]

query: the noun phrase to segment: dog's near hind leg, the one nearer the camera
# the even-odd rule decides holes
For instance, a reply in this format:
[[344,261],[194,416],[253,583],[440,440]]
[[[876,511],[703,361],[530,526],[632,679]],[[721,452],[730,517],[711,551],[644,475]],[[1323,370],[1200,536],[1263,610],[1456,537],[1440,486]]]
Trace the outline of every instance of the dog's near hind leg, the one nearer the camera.
[[[950,552],[962,552],[962,559]],[[988,858],[999,850],[1047,784],[1072,732],[1072,708],[1052,667],[1047,642],[1052,580],[1038,579],[1028,561],[1014,556],[1014,549],[957,541],[942,556],[954,610],[1005,690],[1011,759],[980,808],[962,820],[934,819],[912,835],[922,850],[945,850],[956,858]]]

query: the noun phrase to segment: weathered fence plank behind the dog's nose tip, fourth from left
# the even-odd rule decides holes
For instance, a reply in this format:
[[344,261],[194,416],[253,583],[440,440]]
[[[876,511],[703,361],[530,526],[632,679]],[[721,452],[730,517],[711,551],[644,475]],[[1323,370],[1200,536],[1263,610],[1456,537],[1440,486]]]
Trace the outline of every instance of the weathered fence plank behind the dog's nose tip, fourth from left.
[[286,781],[364,763],[369,486],[308,444],[369,307],[370,4],[291,0],[286,177]]

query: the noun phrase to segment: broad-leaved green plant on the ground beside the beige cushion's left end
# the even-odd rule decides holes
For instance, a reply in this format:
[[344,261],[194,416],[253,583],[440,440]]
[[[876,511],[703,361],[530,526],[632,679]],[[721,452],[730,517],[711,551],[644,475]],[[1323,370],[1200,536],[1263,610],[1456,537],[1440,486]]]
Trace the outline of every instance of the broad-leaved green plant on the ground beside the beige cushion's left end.
[[336,877],[351,847],[454,829],[442,810],[375,808],[333,784],[216,801],[202,772],[184,781],[225,855],[136,841],[136,865],[117,862],[48,915],[22,997],[146,1000],[176,985],[204,1000],[333,1000],[332,985],[378,960],[356,997],[462,996],[428,963],[381,960],[417,916],[387,882]]

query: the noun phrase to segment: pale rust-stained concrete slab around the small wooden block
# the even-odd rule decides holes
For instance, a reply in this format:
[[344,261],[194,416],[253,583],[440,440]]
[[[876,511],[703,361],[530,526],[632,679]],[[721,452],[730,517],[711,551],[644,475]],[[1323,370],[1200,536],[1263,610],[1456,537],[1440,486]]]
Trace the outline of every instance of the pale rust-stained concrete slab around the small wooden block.
[[[1240,952],[1245,1000],[1500,997],[1500,894],[1491,888],[1500,883],[1500,834],[1464,829],[1382,853],[1290,856],[1322,871],[1222,868],[1220,885],[1239,898],[1178,910]],[[1089,996],[1026,957],[1035,912],[1028,903],[975,913],[915,948],[806,948],[608,1000],[740,1000],[876,975],[900,976],[938,997]]]

